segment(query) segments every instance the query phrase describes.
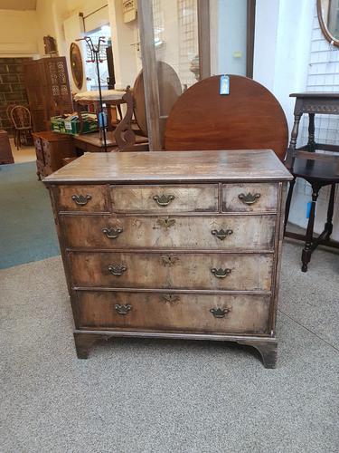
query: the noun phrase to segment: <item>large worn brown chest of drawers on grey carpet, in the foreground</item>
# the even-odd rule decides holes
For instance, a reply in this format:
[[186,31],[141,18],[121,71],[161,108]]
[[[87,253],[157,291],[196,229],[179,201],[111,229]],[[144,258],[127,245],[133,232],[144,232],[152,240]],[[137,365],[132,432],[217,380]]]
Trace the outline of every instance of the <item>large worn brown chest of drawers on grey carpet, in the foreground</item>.
[[93,153],[45,178],[78,357],[115,336],[207,339],[274,367],[289,179],[265,149]]

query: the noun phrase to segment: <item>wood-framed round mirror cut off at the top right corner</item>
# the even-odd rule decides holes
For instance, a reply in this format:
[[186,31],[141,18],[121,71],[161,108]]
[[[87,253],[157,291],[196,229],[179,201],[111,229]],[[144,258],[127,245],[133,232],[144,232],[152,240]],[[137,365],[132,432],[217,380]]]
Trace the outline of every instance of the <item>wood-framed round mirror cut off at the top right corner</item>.
[[339,0],[317,0],[316,9],[326,40],[339,47]]

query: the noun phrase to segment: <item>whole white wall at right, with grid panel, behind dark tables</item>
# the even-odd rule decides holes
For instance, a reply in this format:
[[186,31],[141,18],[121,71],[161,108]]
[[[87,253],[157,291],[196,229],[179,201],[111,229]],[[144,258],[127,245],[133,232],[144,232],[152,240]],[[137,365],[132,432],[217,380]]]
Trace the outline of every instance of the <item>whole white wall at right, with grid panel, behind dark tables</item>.
[[[254,77],[273,92],[287,116],[289,130],[293,125],[295,99],[291,92],[337,92],[339,88],[339,51],[330,50],[321,34],[315,0],[257,0],[254,45]],[[321,115],[315,117],[315,137],[339,144],[339,120]],[[307,141],[306,119],[301,123],[298,145]],[[328,188],[318,198],[315,232],[325,224]],[[289,220],[306,226],[306,205],[311,188],[297,180]],[[333,237],[339,240],[339,200],[334,208]]]

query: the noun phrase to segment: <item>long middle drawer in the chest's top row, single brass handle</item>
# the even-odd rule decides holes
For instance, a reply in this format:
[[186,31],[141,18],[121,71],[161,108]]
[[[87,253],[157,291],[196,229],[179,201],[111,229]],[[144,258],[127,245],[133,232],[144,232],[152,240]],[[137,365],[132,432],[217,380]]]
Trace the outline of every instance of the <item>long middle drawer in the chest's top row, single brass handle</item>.
[[217,212],[218,185],[111,186],[114,212]]

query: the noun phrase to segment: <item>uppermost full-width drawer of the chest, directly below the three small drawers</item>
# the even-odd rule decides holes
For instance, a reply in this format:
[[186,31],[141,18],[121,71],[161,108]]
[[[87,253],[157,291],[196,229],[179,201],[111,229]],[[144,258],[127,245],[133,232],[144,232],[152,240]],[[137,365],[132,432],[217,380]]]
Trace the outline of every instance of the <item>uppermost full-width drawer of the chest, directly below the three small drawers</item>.
[[61,217],[66,246],[271,250],[276,217]]

